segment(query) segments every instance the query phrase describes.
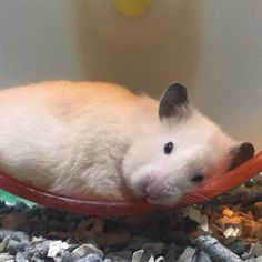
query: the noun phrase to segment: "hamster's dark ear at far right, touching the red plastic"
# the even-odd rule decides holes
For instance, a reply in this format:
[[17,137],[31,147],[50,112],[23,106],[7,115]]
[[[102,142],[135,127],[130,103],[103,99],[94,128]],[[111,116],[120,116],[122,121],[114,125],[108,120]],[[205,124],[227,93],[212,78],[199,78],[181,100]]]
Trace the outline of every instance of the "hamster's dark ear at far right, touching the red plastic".
[[244,163],[254,155],[254,147],[252,143],[242,142],[236,144],[231,151],[231,164],[229,170],[232,170],[240,164]]

